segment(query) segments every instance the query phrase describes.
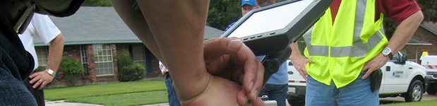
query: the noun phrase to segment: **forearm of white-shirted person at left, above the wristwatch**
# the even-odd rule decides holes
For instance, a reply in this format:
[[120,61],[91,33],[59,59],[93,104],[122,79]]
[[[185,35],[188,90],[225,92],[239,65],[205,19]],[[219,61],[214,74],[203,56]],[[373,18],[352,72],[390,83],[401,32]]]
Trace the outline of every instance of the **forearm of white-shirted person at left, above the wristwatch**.
[[47,69],[52,69],[55,73],[61,63],[62,52],[64,51],[64,36],[59,34],[50,42],[49,60],[47,61]]

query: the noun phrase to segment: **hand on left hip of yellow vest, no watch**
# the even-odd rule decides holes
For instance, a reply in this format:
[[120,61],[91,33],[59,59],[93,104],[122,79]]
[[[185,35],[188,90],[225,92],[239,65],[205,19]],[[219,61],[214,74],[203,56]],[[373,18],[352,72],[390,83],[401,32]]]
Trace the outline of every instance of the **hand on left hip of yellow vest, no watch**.
[[300,75],[305,79],[305,81],[308,81],[308,78],[306,77],[308,73],[306,72],[305,66],[308,63],[314,62],[311,61],[311,59],[302,56],[301,54],[292,54],[290,56],[290,60],[292,61],[294,68],[299,71]]

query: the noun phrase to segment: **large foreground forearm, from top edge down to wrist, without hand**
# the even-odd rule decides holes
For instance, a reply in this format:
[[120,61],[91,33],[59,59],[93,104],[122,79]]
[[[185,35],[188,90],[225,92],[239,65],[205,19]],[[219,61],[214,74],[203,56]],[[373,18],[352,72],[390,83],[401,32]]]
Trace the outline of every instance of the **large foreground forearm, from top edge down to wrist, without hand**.
[[208,86],[203,59],[208,4],[205,0],[138,1],[181,101],[189,102]]

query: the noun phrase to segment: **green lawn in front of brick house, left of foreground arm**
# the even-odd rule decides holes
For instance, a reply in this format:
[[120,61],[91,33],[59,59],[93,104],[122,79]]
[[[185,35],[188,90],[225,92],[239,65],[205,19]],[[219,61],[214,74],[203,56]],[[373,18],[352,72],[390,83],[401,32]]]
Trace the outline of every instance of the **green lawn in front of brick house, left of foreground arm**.
[[166,90],[165,83],[160,78],[148,81],[48,88],[44,89],[44,98],[104,105],[145,105],[167,102]]

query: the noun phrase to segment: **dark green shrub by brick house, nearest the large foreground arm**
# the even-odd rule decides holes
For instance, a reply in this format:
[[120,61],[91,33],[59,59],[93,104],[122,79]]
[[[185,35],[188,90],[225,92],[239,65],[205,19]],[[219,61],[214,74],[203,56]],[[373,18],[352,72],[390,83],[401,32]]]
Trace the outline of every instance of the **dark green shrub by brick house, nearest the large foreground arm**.
[[133,62],[128,52],[120,52],[118,54],[119,61],[119,81],[138,81],[144,73],[144,65]]

